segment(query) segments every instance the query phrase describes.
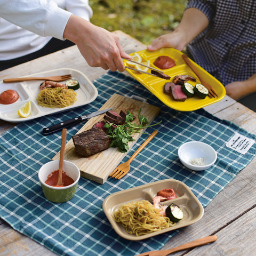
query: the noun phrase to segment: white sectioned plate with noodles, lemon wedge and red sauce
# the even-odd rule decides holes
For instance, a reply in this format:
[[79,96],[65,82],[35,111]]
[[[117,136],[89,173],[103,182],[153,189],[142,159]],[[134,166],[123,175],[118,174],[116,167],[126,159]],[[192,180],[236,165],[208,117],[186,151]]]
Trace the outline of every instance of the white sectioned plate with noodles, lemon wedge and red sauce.
[[[55,114],[61,111],[66,111],[68,109],[77,108],[80,106],[84,106],[92,101],[94,101],[98,96],[98,91],[90,79],[83,74],[81,71],[71,68],[60,68],[51,71],[45,71],[42,73],[37,73],[29,76],[39,76],[39,77],[47,77],[47,76],[58,76],[58,75],[67,75],[71,74],[73,79],[77,79],[80,84],[80,88],[76,90],[77,100],[76,102],[65,108],[45,108],[39,106],[37,104],[36,98],[39,93],[39,85],[43,81],[25,81],[18,83],[4,83],[0,82],[0,94],[6,90],[14,90],[19,94],[19,99],[8,105],[0,104],[0,119],[12,122],[26,122],[37,117],[46,116]],[[65,83],[65,81],[61,82]],[[18,110],[22,105],[24,105],[28,100],[31,101],[32,112],[30,116],[26,118],[22,118],[18,115]]]

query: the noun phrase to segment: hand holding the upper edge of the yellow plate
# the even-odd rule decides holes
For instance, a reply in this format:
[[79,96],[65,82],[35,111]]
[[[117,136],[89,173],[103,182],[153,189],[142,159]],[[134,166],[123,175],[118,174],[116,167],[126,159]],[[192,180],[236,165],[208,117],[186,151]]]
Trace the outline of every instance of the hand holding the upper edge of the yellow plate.
[[185,47],[185,41],[182,39],[183,36],[181,33],[176,31],[162,35],[154,39],[150,45],[147,46],[148,51],[156,51],[163,47],[172,47],[179,51],[182,51]]

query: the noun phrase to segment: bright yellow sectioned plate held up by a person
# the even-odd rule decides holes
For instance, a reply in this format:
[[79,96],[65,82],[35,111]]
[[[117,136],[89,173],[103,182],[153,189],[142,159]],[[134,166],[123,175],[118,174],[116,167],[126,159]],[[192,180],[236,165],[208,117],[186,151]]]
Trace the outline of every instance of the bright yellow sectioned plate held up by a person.
[[[132,53],[131,55],[133,55]],[[212,103],[218,102],[225,97],[226,90],[225,87],[212,75],[210,75],[206,70],[198,66],[194,61],[194,65],[200,71],[202,78],[205,79],[207,83],[209,83],[215,92],[217,92],[218,97],[216,98],[209,98],[208,96],[205,99],[200,99],[197,96],[191,97],[186,99],[185,101],[175,101],[172,99],[171,95],[167,95],[164,93],[164,84],[167,82],[172,82],[174,76],[177,75],[189,75],[196,78],[196,82],[188,81],[188,83],[195,86],[197,83],[201,83],[199,78],[195,75],[193,70],[189,68],[186,62],[182,59],[182,52],[173,49],[173,48],[162,48],[160,50],[149,52],[147,50],[142,50],[137,52],[141,56],[142,61],[150,62],[150,67],[157,68],[153,62],[156,60],[157,57],[165,55],[169,56],[175,61],[176,66],[164,69],[164,73],[171,77],[170,80],[158,78],[155,76],[150,76],[147,74],[139,73],[138,71],[133,71],[130,69],[126,69],[138,82],[140,82],[143,86],[145,86],[151,93],[153,93],[159,100],[161,100],[166,106],[179,110],[179,111],[193,111],[199,108],[206,107],[211,105]],[[124,60],[124,65],[129,66],[126,64],[126,60]],[[157,68],[159,69],[159,68]],[[150,70],[148,70],[150,73]]]

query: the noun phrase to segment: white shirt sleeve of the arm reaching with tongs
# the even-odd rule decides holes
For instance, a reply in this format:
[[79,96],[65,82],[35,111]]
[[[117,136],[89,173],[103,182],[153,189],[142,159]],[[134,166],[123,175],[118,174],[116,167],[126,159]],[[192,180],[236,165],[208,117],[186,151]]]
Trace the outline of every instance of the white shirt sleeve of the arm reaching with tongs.
[[[66,4],[66,9],[58,7]],[[85,7],[85,8],[84,8]],[[85,0],[0,0],[0,17],[40,36],[63,40],[63,31],[72,14],[89,20],[92,10]]]

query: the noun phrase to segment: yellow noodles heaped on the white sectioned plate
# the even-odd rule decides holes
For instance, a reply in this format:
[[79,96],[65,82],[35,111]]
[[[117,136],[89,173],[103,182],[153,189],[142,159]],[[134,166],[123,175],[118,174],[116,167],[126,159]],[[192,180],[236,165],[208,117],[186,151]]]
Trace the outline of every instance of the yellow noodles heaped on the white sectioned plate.
[[38,105],[42,107],[64,108],[74,104],[76,92],[61,87],[47,88],[38,93],[36,100]]

